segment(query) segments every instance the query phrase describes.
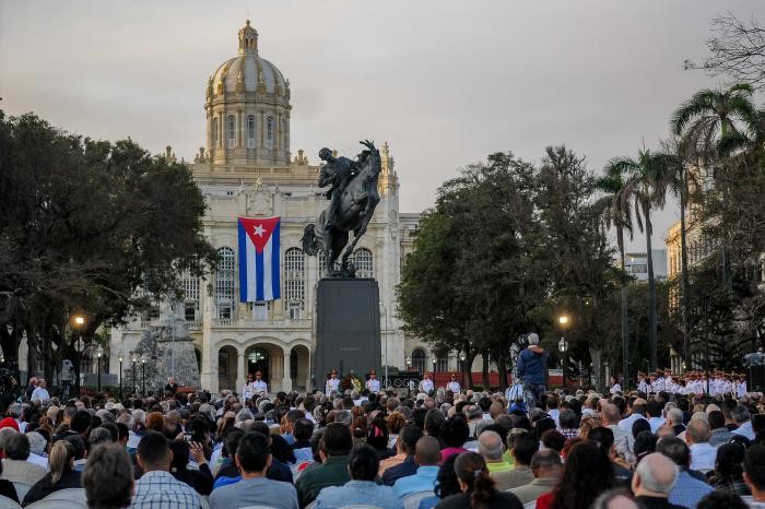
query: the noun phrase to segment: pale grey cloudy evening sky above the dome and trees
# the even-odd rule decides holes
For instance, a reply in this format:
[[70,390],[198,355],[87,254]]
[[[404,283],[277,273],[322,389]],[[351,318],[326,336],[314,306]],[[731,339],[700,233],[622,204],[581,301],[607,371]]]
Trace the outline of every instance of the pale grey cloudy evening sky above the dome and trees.
[[[0,1],[0,108],[69,131],[128,135],[193,158],[204,87],[248,13],[260,55],[292,83],[292,151],[388,141],[401,211],[433,205],[495,151],[538,161],[566,143],[600,170],[657,147],[678,104],[721,79],[684,71],[710,21],[762,0]],[[659,213],[663,247],[675,203]],[[638,236],[632,247],[644,245]]]

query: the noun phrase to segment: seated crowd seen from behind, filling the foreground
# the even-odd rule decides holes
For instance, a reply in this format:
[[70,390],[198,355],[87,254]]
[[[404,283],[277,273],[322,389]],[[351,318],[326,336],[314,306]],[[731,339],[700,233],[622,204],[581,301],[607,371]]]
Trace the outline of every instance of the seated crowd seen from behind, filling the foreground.
[[538,387],[526,407],[429,378],[405,394],[374,382],[269,394],[255,378],[247,396],[168,383],[162,396],[68,401],[40,398],[35,380],[0,421],[0,496],[28,506],[84,488],[99,509],[765,508],[760,393]]

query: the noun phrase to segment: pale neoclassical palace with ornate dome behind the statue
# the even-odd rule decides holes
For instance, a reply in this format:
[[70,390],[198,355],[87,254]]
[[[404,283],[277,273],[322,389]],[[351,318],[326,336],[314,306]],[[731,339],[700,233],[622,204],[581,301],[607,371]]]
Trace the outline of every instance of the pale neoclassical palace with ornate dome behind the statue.
[[[215,273],[183,279],[201,383],[211,391],[240,390],[246,374],[256,370],[263,371],[271,390],[306,388],[311,379],[315,295],[323,259],[305,256],[301,238],[329,202],[317,188],[319,166],[302,150],[292,156],[290,97],[290,81],[260,56],[258,33],[248,21],[238,31],[238,54],[207,83],[207,142],[191,165],[208,204],[204,235],[221,254]],[[379,283],[382,364],[387,358],[390,366],[429,368],[424,360],[432,354],[417,341],[404,340],[396,312],[395,289],[419,214],[399,214],[398,177],[387,144],[380,154],[381,201],[354,261],[358,275]],[[281,217],[281,299],[238,301],[237,216]],[[118,372],[120,354],[123,369],[131,369],[141,331],[158,318],[158,309],[111,330],[110,372]]]

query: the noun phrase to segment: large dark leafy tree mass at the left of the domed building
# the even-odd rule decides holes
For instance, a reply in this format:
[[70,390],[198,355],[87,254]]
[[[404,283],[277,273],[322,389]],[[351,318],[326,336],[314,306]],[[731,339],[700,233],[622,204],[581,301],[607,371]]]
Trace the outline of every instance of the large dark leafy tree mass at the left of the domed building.
[[25,333],[30,370],[42,355],[47,377],[73,355],[73,315],[93,338],[146,306],[146,274],[163,295],[181,270],[201,274],[215,261],[189,168],[130,140],[83,139],[0,113],[0,292],[24,309],[5,316],[13,332],[0,327],[0,343],[14,363]]

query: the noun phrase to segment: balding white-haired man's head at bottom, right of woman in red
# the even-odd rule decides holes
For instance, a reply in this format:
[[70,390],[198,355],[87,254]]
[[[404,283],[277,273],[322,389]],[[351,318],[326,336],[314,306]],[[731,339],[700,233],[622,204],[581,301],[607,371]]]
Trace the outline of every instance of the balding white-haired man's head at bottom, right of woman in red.
[[669,495],[678,482],[678,465],[663,454],[654,452],[645,457],[632,476],[635,501],[649,509],[683,509],[670,504]]

